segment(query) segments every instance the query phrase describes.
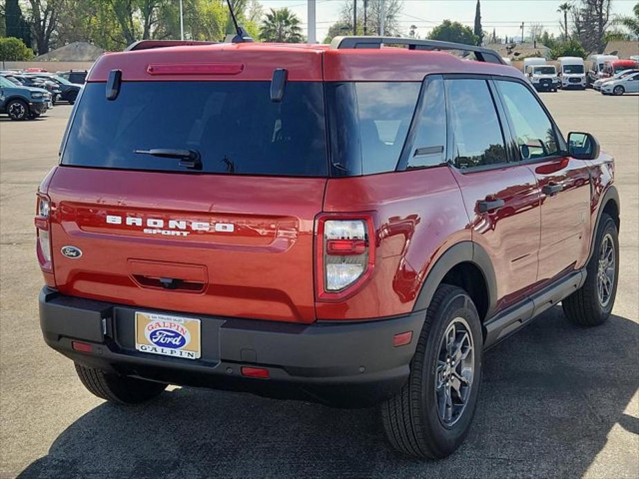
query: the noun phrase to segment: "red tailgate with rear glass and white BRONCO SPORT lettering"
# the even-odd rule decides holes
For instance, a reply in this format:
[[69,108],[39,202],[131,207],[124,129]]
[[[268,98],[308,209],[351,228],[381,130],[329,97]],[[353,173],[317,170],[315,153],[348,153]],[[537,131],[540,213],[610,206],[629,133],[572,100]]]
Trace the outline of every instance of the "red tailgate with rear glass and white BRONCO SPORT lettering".
[[[87,84],[50,183],[61,293],[146,308],[314,321],[327,176],[321,82]],[[190,150],[192,159],[154,149]],[[137,153],[136,153],[137,152]],[[166,152],[165,152],[166,153]],[[66,257],[66,246],[82,251]]]

